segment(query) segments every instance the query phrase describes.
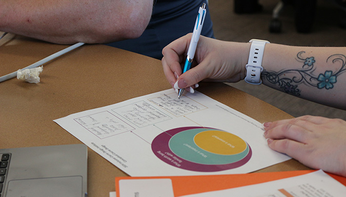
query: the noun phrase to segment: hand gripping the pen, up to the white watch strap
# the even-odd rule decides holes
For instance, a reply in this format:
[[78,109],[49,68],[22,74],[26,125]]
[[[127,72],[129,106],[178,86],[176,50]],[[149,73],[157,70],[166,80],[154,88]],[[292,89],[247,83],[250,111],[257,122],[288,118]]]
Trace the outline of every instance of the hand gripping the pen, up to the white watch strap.
[[[191,35],[181,37],[167,45],[162,54],[162,66],[168,82],[174,87],[186,88],[208,79],[217,82],[238,82],[245,78],[250,45],[220,41],[200,36],[194,65],[181,74],[186,60]],[[176,87],[177,88],[177,87]]]

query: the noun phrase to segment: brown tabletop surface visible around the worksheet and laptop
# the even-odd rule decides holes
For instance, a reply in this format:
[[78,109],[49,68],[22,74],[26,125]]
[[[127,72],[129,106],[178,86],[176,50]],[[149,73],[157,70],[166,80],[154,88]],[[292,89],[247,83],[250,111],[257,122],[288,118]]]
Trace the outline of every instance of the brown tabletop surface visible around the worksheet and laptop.
[[[68,45],[7,35],[0,40],[0,76],[24,68]],[[171,88],[159,60],[106,45],[83,45],[44,65],[41,82],[0,83],[0,149],[82,143],[53,119]],[[291,115],[223,83],[198,91],[259,122]],[[289,160],[259,171],[309,169]],[[88,194],[108,197],[114,178],[128,176],[88,149]]]

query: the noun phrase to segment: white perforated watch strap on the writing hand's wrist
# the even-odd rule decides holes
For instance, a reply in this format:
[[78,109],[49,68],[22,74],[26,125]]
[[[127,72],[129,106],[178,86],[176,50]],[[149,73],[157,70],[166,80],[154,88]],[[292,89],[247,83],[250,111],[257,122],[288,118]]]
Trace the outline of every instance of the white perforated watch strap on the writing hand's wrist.
[[262,58],[264,46],[270,42],[257,39],[252,39],[249,42],[251,42],[251,47],[248,64],[245,66],[247,70],[245,81],[250,84],[259,85],[262,83],[261,72],[263,71]]

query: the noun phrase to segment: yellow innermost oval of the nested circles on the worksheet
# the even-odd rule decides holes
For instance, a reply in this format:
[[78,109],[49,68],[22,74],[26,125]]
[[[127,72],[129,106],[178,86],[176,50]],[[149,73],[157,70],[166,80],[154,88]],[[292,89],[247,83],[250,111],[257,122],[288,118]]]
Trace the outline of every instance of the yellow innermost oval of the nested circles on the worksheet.
[[225,131],[203,131],[195,135],[194,141],[201,149],[220,155],[235,155],[247,147],[240,137]]

